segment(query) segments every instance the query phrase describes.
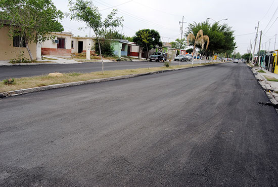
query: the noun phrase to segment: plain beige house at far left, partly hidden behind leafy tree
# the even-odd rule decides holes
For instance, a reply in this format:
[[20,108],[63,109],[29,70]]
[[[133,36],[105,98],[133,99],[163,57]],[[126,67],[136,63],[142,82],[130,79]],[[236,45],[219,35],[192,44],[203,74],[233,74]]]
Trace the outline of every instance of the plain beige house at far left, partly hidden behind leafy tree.
[[[22,41],[22,47],[19,47],[19,36],[9,39],[8,33],[9,25],[4,25],[2,28],[0,28],[0,60],[11,60],[13,58],[18,58],[20,53],[23,53],[23,57],[30,59],[29,53],[25,47],[25,42]],[[34,59],[36,59],[37,55],[40,57],[39,46],[37,49],[37,45],[35,43],[30,43],[29,48]]]

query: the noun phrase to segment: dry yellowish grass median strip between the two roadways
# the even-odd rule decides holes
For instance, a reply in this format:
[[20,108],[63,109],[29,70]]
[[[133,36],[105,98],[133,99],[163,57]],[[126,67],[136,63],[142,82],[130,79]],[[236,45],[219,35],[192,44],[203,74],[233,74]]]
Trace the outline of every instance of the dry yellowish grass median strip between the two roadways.
[[63,77],[50,77],[48,75],[42,75],[42,76],[34,76],[34,77],[15,78],[13,85],[5,85],[4,82],[2,81],[0,83],[0,93],[14,91],[14,90],[21,90],[26,88],[35,88],[35,87],[55,85],[55,84],[88,81],[88,80],[110,78],[110,77],[117,77],[117,76],[126,76],[128,74],[161,71],[161,70],[174,69],[174,68],[202,66],[202,65],[209,65],[215,63],[221,63],[221,62],[211,62],[211,63],[202,63],[202,64],[194,64],[194,65],[192,64],[173,65],[169,67],[162,66],[162,67],[151,67],[151,68],[109,70],[109,71],[104,71],[104,73],[101,73],[101,71],[90,72],[90,73],[70,72],[70,73],[63,73]]

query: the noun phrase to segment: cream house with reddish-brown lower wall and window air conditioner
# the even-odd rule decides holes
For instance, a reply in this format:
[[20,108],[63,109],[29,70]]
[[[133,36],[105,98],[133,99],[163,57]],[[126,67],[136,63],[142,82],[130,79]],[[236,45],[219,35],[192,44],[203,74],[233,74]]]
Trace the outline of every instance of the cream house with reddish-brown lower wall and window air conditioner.
[[91,51],[95,46],[94,37],[73,36],[71,32],[52,32],[55,39],[45,41],[41,44],[42,55],[71,55],[71,53],[82,53]]

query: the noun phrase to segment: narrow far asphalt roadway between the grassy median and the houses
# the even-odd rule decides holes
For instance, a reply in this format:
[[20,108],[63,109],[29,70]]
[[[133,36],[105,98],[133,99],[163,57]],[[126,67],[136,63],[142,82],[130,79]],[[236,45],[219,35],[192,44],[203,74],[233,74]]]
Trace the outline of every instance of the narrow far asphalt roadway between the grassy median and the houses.
[[[175,64],[176,65],[176,64]],[[133,69],[140,67],[163,66],[161,62],[109,62],[104,64],[104,70]],[[92,72],[101,71],[101,63],[80,63],[80,64],[42,64],[42,65],[20,65],[0,66],[0,80],[7,78],[20,78],[39,76],[51,72]]]

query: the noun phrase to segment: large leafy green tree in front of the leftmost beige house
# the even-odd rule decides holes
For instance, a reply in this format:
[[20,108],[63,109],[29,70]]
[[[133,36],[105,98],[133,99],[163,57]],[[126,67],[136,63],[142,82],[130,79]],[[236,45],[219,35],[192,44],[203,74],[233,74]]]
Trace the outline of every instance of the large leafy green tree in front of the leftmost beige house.
[[58,22],[63,13],[56,9],[51,0],[1,0],[0,27],[9,25],[9,39],[19,36],[20,45],[25,43],[30,59],[33,55],[29,44],[54,38],[52,31],[63,31]]

